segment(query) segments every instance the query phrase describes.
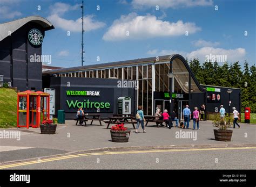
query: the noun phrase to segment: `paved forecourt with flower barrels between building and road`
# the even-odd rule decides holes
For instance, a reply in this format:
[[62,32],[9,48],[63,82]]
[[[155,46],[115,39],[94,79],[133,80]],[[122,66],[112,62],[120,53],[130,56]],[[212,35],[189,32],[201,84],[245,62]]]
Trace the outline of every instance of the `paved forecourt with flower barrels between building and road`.
[[[40,133],[40,128],[9,128],[4,131],[19,131],[19,139],[1,139],[0,162],[29,159],[33,157],[49,156],[68,152],[78,152],[80,150],[97,149],[104,147],[132,147],[140,149],[144,146],[170,146],[170,145],[225,145],[242,146],[243,143],[253,144],[255,140],[256,126],[252,124],[241,124],[241,128],[230,128],[233,130],[231,142],[220,142],[214,140],[211,121],[200,121],[200,130],[181,130],[173,127],[171,130],[165,127],[156,127],[156,124],[149,123],[147,132],[143,133],[141,127],[138,134],[131,128],[131,135],[127,143],[115,143],[111,141],[110,130],[106,125],[99,126],[99,121],[93,121],[96,125],[76,126],[76,121],[66,120],[66,124],[58,124],[56,134],[46,135]],[[3,130],[0,130],[3,131]],[[14,149],[6,146],[14,146]],[[19,147],[21,147],[19,149]],[[28,147],[24,149],[24,147]],[[197,147],[197,148],[199,148]],[[35,151],[33,151],[35,149]],[[132,148],[131,148],[132,149]],[[8,156],[9,155],[9,156]],[[16,156],[15,156],[16,155]],[[18,156],[17,156],[18,155]]]

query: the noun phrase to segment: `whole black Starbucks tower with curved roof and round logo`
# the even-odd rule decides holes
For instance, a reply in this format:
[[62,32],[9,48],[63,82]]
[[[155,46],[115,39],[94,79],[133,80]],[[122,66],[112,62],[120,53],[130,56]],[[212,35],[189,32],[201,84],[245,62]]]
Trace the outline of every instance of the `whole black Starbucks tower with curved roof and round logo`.
[[42,42],[53,25],[39,16],[0,24],[0,75],[18,90],[42,90]]

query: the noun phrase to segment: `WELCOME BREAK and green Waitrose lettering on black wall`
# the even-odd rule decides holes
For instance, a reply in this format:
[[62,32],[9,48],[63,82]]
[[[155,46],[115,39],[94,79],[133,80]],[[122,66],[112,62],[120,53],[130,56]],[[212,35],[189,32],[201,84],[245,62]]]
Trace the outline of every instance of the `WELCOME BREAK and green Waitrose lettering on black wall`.
[[106,98],[106,102],[102,102],[103,98],[100,98],[100,92],[101,91],[66,90],[66,105],[68,105],[69,109],[82,107],[89,112],[99,109],[111,109],[109,99],[104,97]]

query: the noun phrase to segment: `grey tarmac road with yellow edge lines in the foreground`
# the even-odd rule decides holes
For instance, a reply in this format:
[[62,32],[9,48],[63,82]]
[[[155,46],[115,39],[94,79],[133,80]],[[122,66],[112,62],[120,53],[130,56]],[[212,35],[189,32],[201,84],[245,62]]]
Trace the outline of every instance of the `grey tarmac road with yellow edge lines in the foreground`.
[[16,165],[9,163],[0,169],[256,169],[255,149],[230,147],[86,153]]

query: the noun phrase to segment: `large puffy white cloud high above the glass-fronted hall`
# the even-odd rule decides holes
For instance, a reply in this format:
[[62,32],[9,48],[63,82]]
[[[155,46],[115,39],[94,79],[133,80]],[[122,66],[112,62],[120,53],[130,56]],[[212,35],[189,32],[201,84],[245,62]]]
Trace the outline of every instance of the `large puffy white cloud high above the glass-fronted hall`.
[[[190,34],[200,31],[194,23],[183,23],[178,20],[177,23],[163,21],[156,16],[146,15],[138,16],[137,13],[122,15],[119,19],[113,21],[109,30],[103,35],[104,40],[126,40],[126,39],[145,39],[154,37],[171,37]],[[129,35],[127,35],[129,32]]]

